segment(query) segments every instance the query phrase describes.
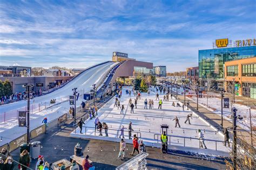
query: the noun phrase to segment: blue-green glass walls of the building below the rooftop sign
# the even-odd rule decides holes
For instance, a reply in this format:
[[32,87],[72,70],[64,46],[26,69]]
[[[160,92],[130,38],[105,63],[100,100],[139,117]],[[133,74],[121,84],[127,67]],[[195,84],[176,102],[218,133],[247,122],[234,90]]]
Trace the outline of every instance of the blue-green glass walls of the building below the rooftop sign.
[[[256,57],[256,46],[199,50],[199,78],[224,80],[225,62],[251,57]],[[229,69],[236,74],[235,67]]]

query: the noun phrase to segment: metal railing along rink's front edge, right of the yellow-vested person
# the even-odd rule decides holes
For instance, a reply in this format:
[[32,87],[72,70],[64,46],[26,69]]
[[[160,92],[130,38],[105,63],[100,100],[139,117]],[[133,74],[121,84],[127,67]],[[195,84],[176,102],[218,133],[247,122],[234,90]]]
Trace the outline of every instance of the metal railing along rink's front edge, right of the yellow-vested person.
[[[157,138],[156,138],[157,136]],[[159,143],[158,141],[159,140],[159,136],[161,136],[161,134],[154,134],[154,140],[157,140],[157,143]],[[171,145],[171,137],[172,138],[183,138],[183,141],[184,141],[184,147],[186,147],[186,139],[189,139],[189,140],[198,140],[199,142],[199,148],[201,148],[201,145],[200,145],[200,140],[203,140],[203,141],[212,141],[212,142],[215,142],[215,151],[217,151],[217,142],[220,142],[220,143],[223,143],[225,141],[221,141],[221,140],[212,140],[212,139],[198,139],[198,138],[192,138],[192,137],[182,137],[182,136],[178,136],[178,135],[167,135],[167,138],[169,138],[169,145]],[[161,137],[160,137],[161,138]],[[232,142],[230,142],[230,144],[232,144]]]

